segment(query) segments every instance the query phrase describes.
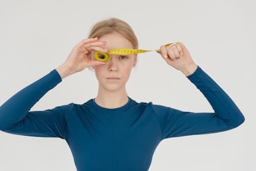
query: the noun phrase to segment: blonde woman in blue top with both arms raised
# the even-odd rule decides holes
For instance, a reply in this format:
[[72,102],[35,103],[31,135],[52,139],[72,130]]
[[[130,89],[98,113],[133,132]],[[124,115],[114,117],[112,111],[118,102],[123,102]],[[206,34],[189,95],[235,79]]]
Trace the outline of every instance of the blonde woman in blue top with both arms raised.
[[[136,66],[137,54],[111,54],[107,62],[93,57],[95,51],[105,53],[118,48],[138,49],[132,28],[118,18],[95,24],[89,38],[79,42],[62,65],[0,107],[0,130],[65,139],[77,170],[148,170],[161,140],[223,132],[244,122],[236,104],[196,65],[183,44],[162,45],[160,55],[195,84],[215,113],[193,113],[152,102],[136,102],[127,95],[125,84]],[[96,98],[83,104],[29,111],[65,77],[86,68],[95,70],[99,82]]]

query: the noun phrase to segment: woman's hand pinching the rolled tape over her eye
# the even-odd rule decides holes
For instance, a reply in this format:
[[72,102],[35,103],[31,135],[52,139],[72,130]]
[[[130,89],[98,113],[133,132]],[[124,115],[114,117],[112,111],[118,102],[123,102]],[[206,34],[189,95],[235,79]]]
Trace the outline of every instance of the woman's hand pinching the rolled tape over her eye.
[[73,48],[63,65],[73,74],[80,72],[89,66],[105,64],[104,61],[94,60],[88,57],[89,51],[107,52],[108,50],[99,47],[104,46],[105,44],[106,42],[100,42],[97,38],[83,39]]

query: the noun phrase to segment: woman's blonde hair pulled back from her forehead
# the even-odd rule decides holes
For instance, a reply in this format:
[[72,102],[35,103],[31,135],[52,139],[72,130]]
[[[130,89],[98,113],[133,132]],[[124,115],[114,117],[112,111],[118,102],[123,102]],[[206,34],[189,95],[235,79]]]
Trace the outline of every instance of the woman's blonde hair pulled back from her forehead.
[[[133,46],[133,49],[138,49],[138,39],[132,29],[132,27],[124,22],[123,20],[111,17],[109,19],[101,20],[100,22],[94,24],[92,26],[91,32],[89,33],[88,38],[101,37],[104,34],[117,32],[129,40]],[[88,53],[88,56],[92,58],[92,52]],[[137,64],[137,62],[136,62]],[[94,71],[94,69],[90,66],[89,70]]]

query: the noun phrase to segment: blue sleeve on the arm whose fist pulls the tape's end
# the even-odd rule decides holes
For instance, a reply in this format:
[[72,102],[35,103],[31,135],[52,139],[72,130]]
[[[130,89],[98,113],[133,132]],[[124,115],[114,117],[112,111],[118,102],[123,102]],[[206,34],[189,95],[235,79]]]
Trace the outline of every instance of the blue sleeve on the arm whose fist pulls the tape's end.
[[214,113],[180,111],[151,103],[160,123],[162,139],[223,132],[244,122],[245,117],[237,105],[199,66],[186,77],[203,93]]

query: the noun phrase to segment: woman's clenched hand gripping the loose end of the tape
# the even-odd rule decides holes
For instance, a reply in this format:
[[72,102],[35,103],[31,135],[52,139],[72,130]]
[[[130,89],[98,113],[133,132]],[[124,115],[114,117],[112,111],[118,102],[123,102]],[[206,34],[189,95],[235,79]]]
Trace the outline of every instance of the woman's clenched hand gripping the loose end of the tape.
[[[191,58],[188,50],[182,43],[180,43],[180,45],[175,43],[167,47],[162,45],[160,47],[160,50],[161,52],[158,53],[161,54],[161,56],[168,63],[168,65],[174,67],[179,71],[184,71],[186,70],[186,67],[195,65],[195,62]],[[183,54],[181,55],[180,52],[182,52]],[[165,54],[167,58],[164,57]]]

